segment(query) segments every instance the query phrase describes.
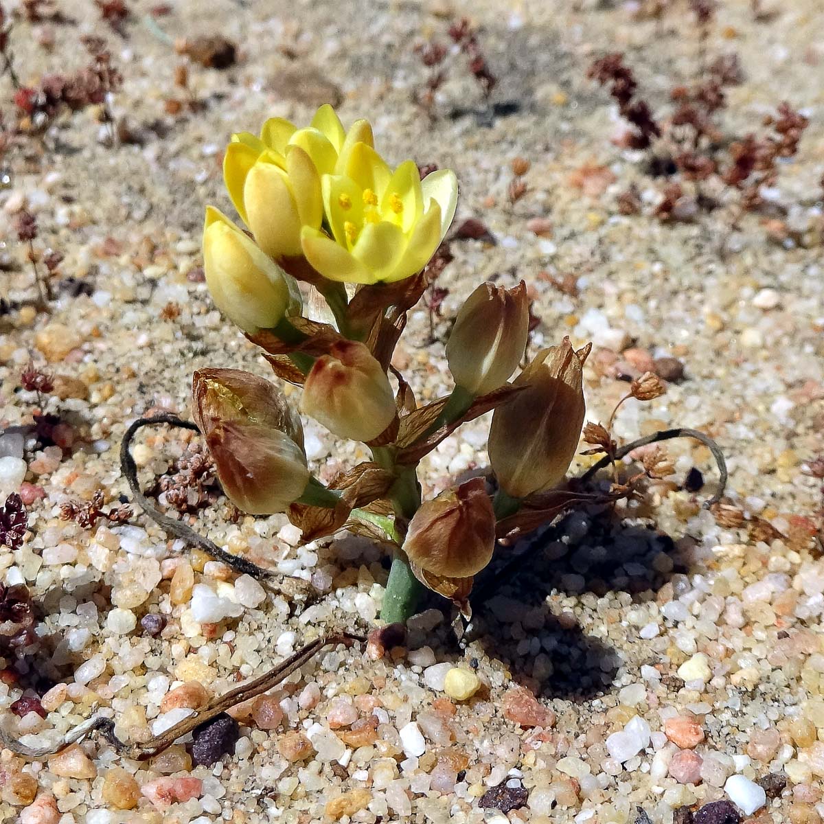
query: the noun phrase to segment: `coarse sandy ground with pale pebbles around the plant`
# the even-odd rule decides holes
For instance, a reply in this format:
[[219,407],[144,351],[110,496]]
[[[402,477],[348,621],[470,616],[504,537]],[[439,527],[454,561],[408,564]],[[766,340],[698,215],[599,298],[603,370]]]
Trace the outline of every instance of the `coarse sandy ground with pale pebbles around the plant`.
[[[783,792],[740,820],[821,821],[824,562],[811,531],[822,517],[822,482],[804,471],[824,452],[818,3],[765,0],[765,12],[775,14],[755,20],[748,2],[726,0],[703,47],[681,3],[658,21],[639,18],[630,4],[539,0],[465,7],[344,0],[296,2],[288,10],[180,0],[155,18],[172,37],[234,40],[239,60],[225,71],[175,54],[143,21],[155,5],[129,2],[125,36],[85,0],[59,3],[64,21],[20,21],[11,35],[22,82],[81,67],[80,35],[105,36],[124,75],[111,110],[139,138],[105,145],[105,126],[86,109],[62,115],[42,139],[15,138],[0,158],[0,297],[11,304],[0,316],[0,428],[32,423],[37,397],[19,388],[30,359],[60,376],[65,397],[50,397],[47,410],[69,424],[63,450],[0,434],[0,455],[21,456],[26,483],[44,493],[29,506],[26,545],[0,555],[7,582],[25,581],[42,605],[40,640],[26,660],[7,661],[0,709],[29,690],[49,712],[45,719],[8,713],[13,733],[48,741],[99,712],[115,717],[124,737],[146,737],[162,724],[164,696],[180,683],[199,681],[219,693],[327,630],[368,628],[379,610],[387,568],[377,547],[344,539],[299,549],[282,518],[232,522],[219,499],[196,525],[277,569],[283,592],[262,601],[252,595],[246,600],[254,606],[241,615],[199,625],[188,593],[171,599],[179,595],[170,594],[179,541],[139,513],[124,527],[95,529],[59,517],[68,499],[88,500],[102,489],[116,504],[128,491],[117,458],[124,429],[148,410],[189,416],[194,369],[266,374],[255,348],[214,309],[198,267],[205,204],[231,208],[222,189],[223,146],[232,131],[255,131],[270,115],[301,123],[333,101],[344,124],[367,116],[393,161],[412,156],[455,169],[456,223],[478,218],[494,236],[494,245],[452,244],[436,341],[428,340],[425,311],[410,317],[398,357],[415,370],[419,396],[449,386],[443,340],[463,297],[485,278],[526,279],[541,319],[534,348],[567,334],[577,345],[595,343],[588,419],[605,420],[627,389],[599,363],[617,356],[630,371],[650,357],[683,364],[683,379],[665,396],[622,406],[616,435],[631,439],[675,425],[709,433],[728,459],[727,502],[749,520],[730,526],[700,508],[717,475],[704,447],[678,442],[672,483],[649,489],[614,517],[575,513],[531,545],[527,574],[481,579],[462,645],[448,609],[433,601],[438,609],[414,621],[407,647],[391,658],[373,662],[358,648],[326,653],[271,702],[285,713],[279,725],[267,726],[260,714],[241,719],[233,754],[211,767],[193,767],[181,747],[148,764],[121,760],[101,742],[84,742],[63,761],[26,763],[2,751],[0,819],[503,822],[496,805],[507,809],[509,798],[513,822],[670,824],[680,808],[744,803],[734,782],[729,793],[723,789],[731,775],[742,775],[748,797],[757,799],[750,781],[777,773],[787,780]],[[414,96],[431,70],[414,45],[429,36],[447,44],[448,21],[462,14],[478,26],[499,84],[486,101],[466,58],[450,54],[446,82],[427,113]],[[44,28],[54,34],[51,50],[33,36]],[[783,212],[745,214],[736,225],[727,203],[691,222],[664,224],[649,215],[662,181],[611,141],[619,122],[606,92],[586,77],[592,59],[624,51],[653,109],[667,110],[669,88],[695,77],[702,48],[712,56],[736,52],[746,77],[730,90],[719,119],[724,133],[761,129],[782,100],[811,120],[770,193]],[[166,101],[186,101],[175,86],[179,65],[188,65],[200,105],[171,115]],[[0,88],[10,126],[7,77]],[[513,204],[507,191],[515,157],[531,166],[526,194]],[[576,185],[582,167],[597,168],[584,175],[583,190]],[[625,216],[617,198],[632,182],[649,205]],[[35,247],[65,255],[49,311],[33,308],[26,247],[12,228],[24,207],[39,226]],[[551,228],[537,236],[530,218],[545,218]],[[564,275],[575,283],[573,294],[553,283]],[[421,471],[427,494],[485,466],[486,423],[462,428],[428,457]],[[144,438],[143,483],[165,471],[184,444],[162,430]],[[362,456],[311,422],[307,452],[321,477]],[[697,496],[680,488],[693,466],[707,482]],[[0,489],[14,491],[19,480],[3,476]],[[495,564],[506,560],[504,550]],[[202,557],[192,565],[195,583],[237,600],[232,576]],[[307,582],[297,595],[292,579]],[[149,613],[166,616],[159,637],[140,623]],[[444,662],[474,668],[480,691],[448,700]],[[517,684],[551,710],[532,708],[537,726],[515,720]],[[372,718],[374,734],[351,734],[353,722],[369,727]],[[341,720],[345,746],[329,729]],[[410,724],[424,733],[423,751],[410,744]],[[700,729],[701,740],[684,728]],[[312,746],[289,761],[283,741],[296,741],[297,730]],[[616,747],[624,755],[635,749],[623,757]],[[143,792],[118,793],[115,767],[134,775]],[[166,775],[171,782],[158,783]],[[133,784],[123,779],[120,786]],[[495,787],[498,794],[489,794]],[[709,810],[696,822],[739,820]]]

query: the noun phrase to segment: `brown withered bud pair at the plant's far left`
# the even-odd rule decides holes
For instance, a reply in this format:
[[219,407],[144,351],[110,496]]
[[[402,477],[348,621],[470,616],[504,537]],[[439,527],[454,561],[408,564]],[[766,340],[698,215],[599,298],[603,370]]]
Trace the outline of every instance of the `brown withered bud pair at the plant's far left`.
[[200,369],[194,419],[223,491],[243,512],[285,512],[309,482],[300,417],[274,384],[239,369]]

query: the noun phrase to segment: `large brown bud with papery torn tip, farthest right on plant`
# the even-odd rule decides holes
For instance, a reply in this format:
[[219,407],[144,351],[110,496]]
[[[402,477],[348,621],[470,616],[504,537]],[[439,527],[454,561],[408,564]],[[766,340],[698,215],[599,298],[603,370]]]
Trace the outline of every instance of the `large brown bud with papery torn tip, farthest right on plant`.
[[575,352],[569,338],[541,349],[514,382],[526,388],[494,411],[489,463],[513,498],[555,486],[569,469],[581,438],[589,349]]

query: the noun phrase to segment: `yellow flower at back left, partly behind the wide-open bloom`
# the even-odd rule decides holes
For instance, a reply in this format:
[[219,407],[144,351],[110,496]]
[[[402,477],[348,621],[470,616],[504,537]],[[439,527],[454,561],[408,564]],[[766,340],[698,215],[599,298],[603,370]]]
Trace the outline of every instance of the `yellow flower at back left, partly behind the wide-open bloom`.
[[301,254],[301,227],[323,218],[321,175],[342,168],[355,143],[372,144],[372,128],[358,120],[344,132],[330,105],[317,110],[306,129],[270,118],[260,137],[232,135],[223,179],[232,203],[255,241],[274,258]]

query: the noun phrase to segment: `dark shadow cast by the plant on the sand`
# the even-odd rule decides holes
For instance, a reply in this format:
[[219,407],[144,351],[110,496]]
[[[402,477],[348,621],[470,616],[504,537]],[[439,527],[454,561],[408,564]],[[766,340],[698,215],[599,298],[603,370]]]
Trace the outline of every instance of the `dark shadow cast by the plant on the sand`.
[[625,525],[611,508],[569,513],[499,549],[472,594],[470,639],[536,695],[592,700],[610,691],[620,656],[604,639],[585,634],[572,611],[561,610],[560,598],[627,592],[644,602],[686,569],[676,542],[662,531]]

